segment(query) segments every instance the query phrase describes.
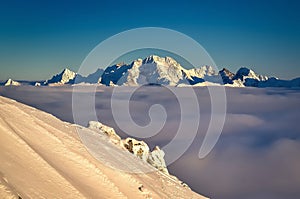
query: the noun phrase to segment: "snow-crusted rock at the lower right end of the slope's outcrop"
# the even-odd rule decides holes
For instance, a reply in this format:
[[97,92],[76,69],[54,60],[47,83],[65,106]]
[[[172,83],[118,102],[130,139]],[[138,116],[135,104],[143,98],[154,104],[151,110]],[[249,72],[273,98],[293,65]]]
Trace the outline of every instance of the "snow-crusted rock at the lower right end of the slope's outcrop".
[[153,167],[157,168],[163,173],[169,173],[164,159],[165,153],[158,146],[156,146],[151,153],[149,153],[147,162]]

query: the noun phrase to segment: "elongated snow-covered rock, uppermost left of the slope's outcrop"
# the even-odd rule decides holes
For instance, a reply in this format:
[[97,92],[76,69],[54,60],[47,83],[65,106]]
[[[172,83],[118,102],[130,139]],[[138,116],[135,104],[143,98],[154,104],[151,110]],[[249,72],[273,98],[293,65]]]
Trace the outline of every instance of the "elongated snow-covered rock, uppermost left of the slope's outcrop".
[[88,128],[93,131],[106,134],[114,144],[119,144],[121,141],[120,136],[116,134],[115,130],[112,127],[106,126],[101,122],[90,121],[88,124]]

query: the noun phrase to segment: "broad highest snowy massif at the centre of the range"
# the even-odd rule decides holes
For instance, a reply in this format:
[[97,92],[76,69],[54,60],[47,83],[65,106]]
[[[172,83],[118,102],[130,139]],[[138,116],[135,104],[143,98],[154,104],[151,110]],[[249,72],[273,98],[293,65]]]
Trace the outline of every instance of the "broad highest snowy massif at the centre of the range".
[[109,85],[136,86],[141,84],[162,84],[176,86],[185,80],[185,69],[171,57],[151,55],[137,59],[131,64],[117,64],[108,67],[101,83]]

